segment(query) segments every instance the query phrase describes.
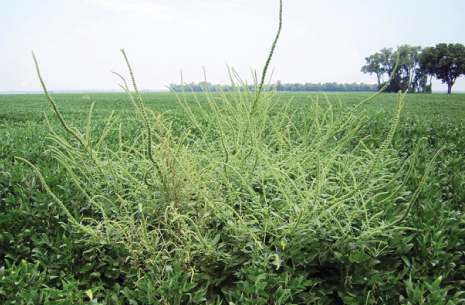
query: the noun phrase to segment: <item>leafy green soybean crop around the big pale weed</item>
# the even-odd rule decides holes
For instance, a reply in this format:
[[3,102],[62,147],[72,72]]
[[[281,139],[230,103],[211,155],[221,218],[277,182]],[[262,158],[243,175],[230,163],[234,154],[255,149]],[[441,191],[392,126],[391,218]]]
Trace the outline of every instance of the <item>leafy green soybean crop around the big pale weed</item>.
[[[229,93],[225,94],[228,97],[231,96]],[[211,95],[215,100],[220,98],[219,93],[211,93]],[[143,128],[135,120],[131,109],[128,110],[124,106],[123,95],[91,94],[90,96],[91,102],[95,102],[93,111],[94,134],[103,129],[106,124],[105,118],[112,109],[117,110],[116,112],[121,118],[120,121],[124,124],[122,128],[123,139],[134,138],[138,130]],[[185,93],[184,96],[193,113],[200,112],[199,105],[207,105],[204,96],[197,96],[199,104],[192,93]],[[289,112],[300,109],[297,112],[305,113],[310,103],[306,93],[284,94],[276,101],[277,105],[281,107],[285,103],[283,101],[289,100],[292,96],[294,98],[289,104]],[[53,97],[60,99],[60,108],[62,108],[63,115],[66,116],[70,125],[86,126],[86,116],[83,116],[83,113],[86,112],[86,108],[90,107],[91,102],[82,104],[79,101],[81,95],[53,95]],[[175,96],[165,93],[146,93],[143,94],[143,97],[146,107],[159,109],[159,112],[170,111],[173,134],[179,136],[186,129],[188,126],[187,118],[182,114],[182,108],[176,106]],[[367,94],[346,93],[341,95],[343,100],[341,105],[339,105],[336,95],[328,95],[328,100],[331,101],[333,112],[338,115],[340,111],[342,113],[349,111],[358,104],[359,100],[367,97]],[[316,101],[317,97],[314,96],[313,99]],[[216,303],[219,297],[225,304],[227,298],[230,297],[232,302],[238,304],[240,301],[234,298],[232,293],[243,294],[244,297],[249,295],[249,298],[252,297],[253,293],[240,292],[235,282],[250,281],[247,275],[253,274],[254,270],[259,268],[268,274],[267,279],[269,278],[269,280],[266,281],[267,286],[264,291],[270,296],[273,296],[280,286],[284,291],[283,295],[286,296],[288,294],[286,289],[294,289],[286,283],[294,279],[298,280],[300,276],[303,278],[306,290],[292,293],[295,297],[288,298],[286,301],[288,303],[305,303],[307,301],[306,303],[309,304],[332,304],[343,302],[342,299],[344,299],[347,304],[350,302],[365,304],[367,300],[368,303],[398,304],[400,296],[403,299],[408,299],[404,281],[408,281],[410,277],[415,287],[415,285],[425,285],[423,284],[425,282],[433,283],[439,276],[442,276],[440,289],[447,286],[453,287],[452,289],[448,288],[446,300],[460,304],[461,297],[456,297],[456,299],[453,297],[464,288],[464,270],[461,267],[464,265],[461,251],[465,250],[462,243],[462,240],[465,239],[465,223],[461,212],[463,210],[462,202],[465,198],[465,188],[463,188],[465,164],[461,162],[462,152],[465,149],[464,139],[461,136],[465,131],[462,120],[464,97],[460,94],[406,95],[405,100],[403,115],[399,120],[392,143],[392,148],[397,153],[393,154],[392,157],[398,156],[399,162],[405,160],[415,151],[419,139],[428,137],[428,141],[427,143],[422,142],[424,145],[422,144],[419,150],[420,153],[412,176],[405,185],[405,192],[410,192],[410,194],[402,195],[399,193],[398,196],[395,196],[398,197],[396,200],[398,205],[405,206],[406,200],[411,198],[436,150],[442,146],[446,148],[438,157],[434,174],[428,175],[423,192],[418,196],[417,204],[406,219],[408,226],[412,229],[392,231],[382,237],[385,243],[368,245],[363,251],[357,251],[363,252],[365,256],[376,261],[375,264],[366,264],[363,261],[351,263],[347,259],[348,265],[346,265],[343,263],[345,261],[343,257],[350,257],[350,252],[335,249],[342,254],[342,257],[336,258],[336,255],[339,254],[324,250],[323,247],[328,245],[328,242],[318,238],[307,238],[306,242],[297,241],[293,244],[292,251],[290,251],[289,241],[286,241],[285,251],[282,251],[280,241],[277,244],[283,252],[280,257],[280,270],[276,270],[277,266],[273,264],[273,258],[270,258],[271,264],[267,264],[265,267],[251,266],[249,268],[247,265],[241,264],[240,259],[243,254],[239,252],[232,258],[232,260],[237,260],[236,264],[238,265],[232,267],[232,273],[229,275],[223,274],[222,267],[224,265],[221,264],[205,264],[202,266],[202,271],[197,273],[185,270],[186,273],[190,273],[189,283],[198,283],[192,291],[205,291],[207,299],[205,302],[207,303]],[[61,279],[69,281],[71,277],[74,280],[79,280],[79,291],[86,291],[103,284],[102,289],[94,293],[94,300],[103,304],[126,304],[129,303],[129,299],[141,303],[139,299],[148,298],[149,293],[142,292],[143,288],[141,288],[146,286],[134,285],[138,283],[136,280],[137,268],[131,266],[131,260],[126,260],[127,251],[123,251],[119,247],[113,249],[109,246],[86,244],[82,233],[77,233],[75,228],[66,225],[67,220],[64,212],[52,203],[53,199],[41,188],[36,174],[28,167],[12,162],[11,156],[14,152],[23,152],[22,157],[35,160],[34,163],[41,169],[44,179],[57,196],[67,198],[65,201],[72,214],[80,215],[81,218],[90,215],[92,209],[79,194],[79,189],[63,170],[63,167],[58,166],[49,154],[40,153],[44,149],[45,143],[53,144],[50,140],[45,142],[46,122],[41,121],[40,117],[34,114],[36,108],[46,109],[46,101],[43,99],[36,101],[28,96],[2,96],[1,102],[5,106],[3,109],[6,110],[3,112],[4,120],[14,122],[15,118],[22,117],[34,122],[34,124],[21,125],[5,124],[0,130],[3,132],[2,139],[4,141],[16,143],[2,147],[5,157],[0,162],[0,197],[2,200],[0,205],[2,217],[0,221],[0,234],[2,234],[0,236],[0,256],[2,261],[4,261],[5,255],[8,255],[9,261],[16,261],[17,265],[21,263],[22,258],[34,264],[40,260],[39,272],[46,271],[51,277],[46,285],[59,291],[62,290]],[[366,111],[366,115],[362,118],[363,123],[356,137],[363,138],[368,148],[375,150],[382,143],[389,129],[390,116],[396,103],[395,95],[382,95],[379,101],[366,103],[360,107]],[[328,107],[327,103],[319,104],[323,109]],[[32,111],[28,111],[26,115],[24,113],[21,116],[15,114],[28,108]],[[305,122],[309,121],[305,117],[300,117],[299,120],[297,118],[299,117],[294,117],[296,126],[302,127]],[[59,129],[60,122],[57,119],[51,117],[50,124],[53,129]],[[118,131],[118,128],[115,128],[115,131]],[[16,138],[11,138],[12,135]],[[98,141],[97,135],[94,137],[94,141]],[[368,135],[371,136],[368,137]],[[31,136],[44,140],[28,143],[25,139]],[[67,137],[66,134],[62,134],[62,136]],[[107,142],[109,146],[117,147],[119,143],[118,132],[110,132]],[[24,145],[24,150],[19,146],[23,143],[28,143],[28,145]],[[351,141],[350,145],[354,147],[357,143],[357,141]],[[398,167],[396,164],[392,164],[391,168],[393,170]],[[360,254],[355,254],[353,257],[356,258],[358,255]],[[292,271],[293,265],[290,265],[291,259],[293,263],[296,262],[294,271]],[[261,260],[265,260],[265,258]],[[6,264],[3,266],[5,270],[9,269]],[[411,269],[413,267],[415,269]],[[414,272],[410,272],[410,270]],[[347,271],[349,271],[347,284],[350,283],[352,287],[344,285]],[[140,282],[143,283],[146,277],[152,277],[152,283],[156,284],[153,285],[154,289],[150,293],[157,300],[161,300],[162,296],[159,292],[153,292],[153,290],[156,291],[161,282],[166,282],[166,278],[156,282],[153,280],[156,276],[157,274],[152,274],[149,269],[140,279]],[[311,283],[306,281],[311,281]],[[297,284],[293,285],[298,286]],[[205,288],[200,289],[200,287]],[[297,288],[295,291],[298,291]],[[130,292],[135,295],[130,297],[132,295]],[[424,297],[427,297],[429,293],[429,290],[426,289]],[[278,295],[274,298],[277,299]],[[83,300],[89,299],[84,296]]]

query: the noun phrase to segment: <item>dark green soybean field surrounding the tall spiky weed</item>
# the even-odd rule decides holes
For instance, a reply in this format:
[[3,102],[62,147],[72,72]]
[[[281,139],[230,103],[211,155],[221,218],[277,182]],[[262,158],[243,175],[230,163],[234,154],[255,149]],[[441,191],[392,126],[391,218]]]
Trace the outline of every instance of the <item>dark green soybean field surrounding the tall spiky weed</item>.
[[[309,97],[318,98],[320,105],[323,105],[324,109],[327,108],[326,99],[328,99],[334,108],[335,115],[338,116],[370,95],[371,93],[327,93],[326,95],[316,92],[278,93],[276,102],[284,104],[284,102],[292,98],[289,113],[293,111],[308,112],[308,117],[311,117]],[[86,129],[87,116],[92,103],[95,103],[92,130],[96,133],[105,126],[105,120],[113,110],[122,124],[123,138],[134,138],[143,129],[141,122],[135,118],[130,100],[124,93],[53,94],[52,96],[68,124],[79,130]],[[165,119],[172,122],[174,133],[181,133],[189,127],[187,126],[189,123],[186,114],[174,94],[142,93],[142,96],[146,107],[155,114],[165,113]],[[194,113],[200,111],[194,103],[195,97],[193,94],[187,94],[186,98],[188,103],[192,105]],[[339,99],[342,108],[340,108]],[[199,95],[199,101],[201,105],[206,105],[202,95]],[[381,94],[375,100],[363,106],[366,113],[357,138],[365,138],[364,143],[370,149],[375,151],[376,147],[385,138],[391,119],[395,115],[396,103],[396,94]],[[96,294],[99,293],[99,298],[104,299],[105,297],[114,296],[115,299],[119,299],[121,302],[115,304],[123,304],[127,302],[127,299],[131,298],[140,298],[138,300],[142,300],[143,297],[140,295],[128,297],[125,293],[120,292],[120,286],[121,291],[123,291],[125,285],[129,290],[135,289],[128,284],[135,275],[134,271],[131,271],[130,267],[122,261],[104,259],[105,255],[107,255],[105,253],[109,253],[108,255],[111,257],[118,257],[119,254],[105,249],[97,250],[92,248],[87,250],[86,245],[79,241],[78,237],[81,235],[72,237],[76,233],[71,233],[72,230],[62,224],[67,222],[66,216],[60,209],[55,207],[53,199],[40,186],[37,175],[26,165],[14,161],[13,156],[31,161],[41,170],[44,179],[51,188],[69,204],[71,213],[74,213],[74,215],[87,213],[86,211],[89,208],[80,205],[83,197],[79,194],[79,190],[66,174],[64,168],[59,166],[50,157],[50,154],[44,154],[50,141],[46,139],[48,127],[43,112],[50,119],[51,125],[64,135],[65,133],[62,132],[61,125],[54,116],[51,105],[44,95],[0,95],[0,267],[3,266],[5,269],[9,269],[8,264],[13,262],[20,264],[21,260],[31,263],[31,266],[40,262],[39,271],[44,272],[43,275],[46,276],[49,287],[65,290],[61,280],[67,282],[80,281],[73,290],[75,291],[73,297],[85,299],[87,297],[84,294],[77,296],[78,290],[84,291],[100,287],[94,289]],[[396,151],[400,160],[403,160],[413,152],[416,143],[422,137],[427,137],[428,140],[420,148],[419,159],[413,175],[406,185],[407,191],[402,196],[408,197],[410,196],[408,192],[416,190],[427,163],[438,149],[441,147],[445,147],[445,149],[438,157],[432,173],[427,177],[424,191],[418,197],[417,203],[405,224],[405,226],[414,229],[411,231],[410,229],[405,230],[403,233],[392,233],[392,235],[389,235],[391,234],[389,233],[383,237],[386,238],[389,247],[392,248],[389,248],[388,256],[374,257],[382,261],[379,269],[376,270],[380,278],[378,279],[373,274],[368,273],[368,275],[364,275],[365,279],[354,276],[352,278],[353,289],[358,292],[349,293],[346,296],[344,295],[345,292],[342,291],[349,289],[348,286],[344,284],[344,280],[335,279],[339,271],[336,272],[331,269],[332,267],[324,265],[323,256],[327,255],[327,253],[324,255],[320,253],[317,257],[321,258],[320,263],[323,267],[318,266],[323,269],[320,270],[317,265],[312,265],[311,268],[309,267],[310,269],[305,269],[305,272],[302,271],[303,269],[299,269],[299,272],[301,272],[299,276],[305,277],[308,274],[314,274],[312,276],[321,279],[321,281],[308,282],[306,288],[302,286],[304,287],[302,290],[295,288],[295,291],[304,291],[304,295],[310,295],[311,291],[313,293],[321,289],[321,295],[318,294],[319,292],[315,292],[315,295],[318,295],[322,300],[324,295],[328,296],[327,302],[321,304],[330,304],[331,302],[359,304],[370,297],[374,298],[373,294],[376,293],[379,293],[379,295],[376,296],[376,300],[373,299],[373,302],[386,301],[386,299],[383,299],[381,291],[385,295],[395,296],[395,300],[391,299],[393,304],[396,303],[396,300],[398,304],[399,295],[412,300],[412,304],[419,304],[421,300],[429,300],[430,304],[440,304],[439,299],[435,299],[436,296],[433,296],[434,293],[442,293],[443,299],[441,300],[450,300],[453,302],[451,304],[456,302],[458,296],[454,299],[454,295],[457,292],[465,291],[465,283],[463,282],[465,276],[465,244],[463,243],[463,240],[465,240],[465,217],[462,215],[464,211],[463,203],[465,202],[465,94],[407,95],[397,132],[390,147]],[[112,141],[116,143],[118,139],[117,125],[110,131],[108,138],[110,145],[113,143]],[[353,145],[356,144],[353,143]],[[46,241],[47,238],[48,241]],[[402,240],[402,242],[399,240]],[[402,244],[403,248],[399,243]],[[381,245],[381,242],[379,245]],[[284,249],[285,244],[282,246],[283,251]],[[276,253],[278,253],[277,250]],[[338,252],[335,253],[334,259],[336,260]],[[291,260],[292,255],[289,255],[287,258],[283,258],[283,264]],[[297,256],[297,254],[294,255]],[[229,258],[222,259],[226,261]],[[8,263],[5,260],[8,260]],[[328,258],[328,260],[330,259]],[[334,263],[333,265],[343,266],[341,262],[338,261],[337,264]],[[353,270],[358,270],[356,267],[363,265],[353,264],[355,266]],[[78,267],[79,270],[76,269]],[[275,267],[273,266],[273,268]],[[344,272],[349,272],[350,269],[349,267],[347,269],[340,268]],[[218,274],[208,273],[208,271],[205,271],[207,269],[207,266],[202,265],[201,272],[205,272],[202,273],[205,274],[205,277],[199,279],[199,283],[201,283],[198,286],[199,289],[200,285],[210,281],[207,281],[207,278],[210,279],[211,277],[211,283],[214,283],[215,276],[219,276]],[[185,269],[184,272],[189,270]],[[336,275],[333,275],[335,277],[329,277],[328,275],[328,278],[325,278],[325,270],[331,270],[328,274],[333,274],[334,271]],[[200,269],[197,271],[200,272]],[[5,290],[5,287],[9,285],[5,282],[6,280],[1,281],[2,272],[4,271],[0,269],[0,291]],[[234,274],[234,276],[239,276],[239,273]],[[310,281],[312,276],[308,277]],[[442,282],[440,287],[436,287],[433,283],[439,277],[441,277]],[[230,282],[230,279],[225,281],[224,285],[227,286],[227,289],[208,282],[212,285],[207,285],[210,287],[208,291],[211,292],[211,295],[206,296],[209,302],[213,302],[213,299],[219,297],[222,293],[227,294],[228,291],[233,291],[233,287],[236,287],[235,284],[233,285]],[[364,286],[365,282],[370,282],[370,284]],[[33,287],[32,284],[28,285],[27,287]],[[436,288],[431,288],[433,286],[428,285],[433,285]],[[242,286],[238,284],[237,287],[241,288]],[[273,289],[276,290],[276,287]],[[312,290],[313,288],[308,287],[317,287],[318,289]],[[247,289],[250,290],[250,288]],[[220,290],[222,292],[218,292]],[[372,292],[365,296],[362,301],[356,299],[357,294],[362,295],[362,291],[366,293],[368,290]],[[417,290],[421,291],[418,293],[423,299],[415,299],[414,291]],[[260,296],[264,297],[265,294],[260,293]],[[256,294],[256,296],[258,295]],[[87,296],[89,295],[87,294]],[[354,303],[350,303],[350,298],[353,298]],[[1,300],[4,301],[0,293]],[[389,302],[386,301],[387,303]]]

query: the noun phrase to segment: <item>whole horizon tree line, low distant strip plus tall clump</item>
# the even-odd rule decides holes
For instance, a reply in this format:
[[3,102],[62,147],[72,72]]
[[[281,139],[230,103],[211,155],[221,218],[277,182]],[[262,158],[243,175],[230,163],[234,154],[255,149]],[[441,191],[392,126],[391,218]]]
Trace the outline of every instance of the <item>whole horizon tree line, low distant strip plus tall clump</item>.
[[[365,58],[363,73],[375,74],[377,84],[339,84],[339,83],[281,83],[272,84],[271,89],[278,91],[378,91],[389,79],[394,71],[396,61],[398,67],[389,83],[386,92],[408,91],[410,93],[431,93],[432,77],[436,77],[447,84],[447,93],[451,93],[452,86],[458,77],[465,75],[465,46],[460,43],[440,43],[435,47],[422,48],[408,44],[392,48],[383,48],[379,52]],[[429,84],[428,84],[429,78]],[[171,89],[180,92],[182,85],[170,84]],[[238,86],[244,90],[242,86]],[[256,90],[249,85],[249,90]],[[184,85],[186,91],[217,91],[219,89],[233,90],[231,85],[214,85],[209,82],[190,83]]]

